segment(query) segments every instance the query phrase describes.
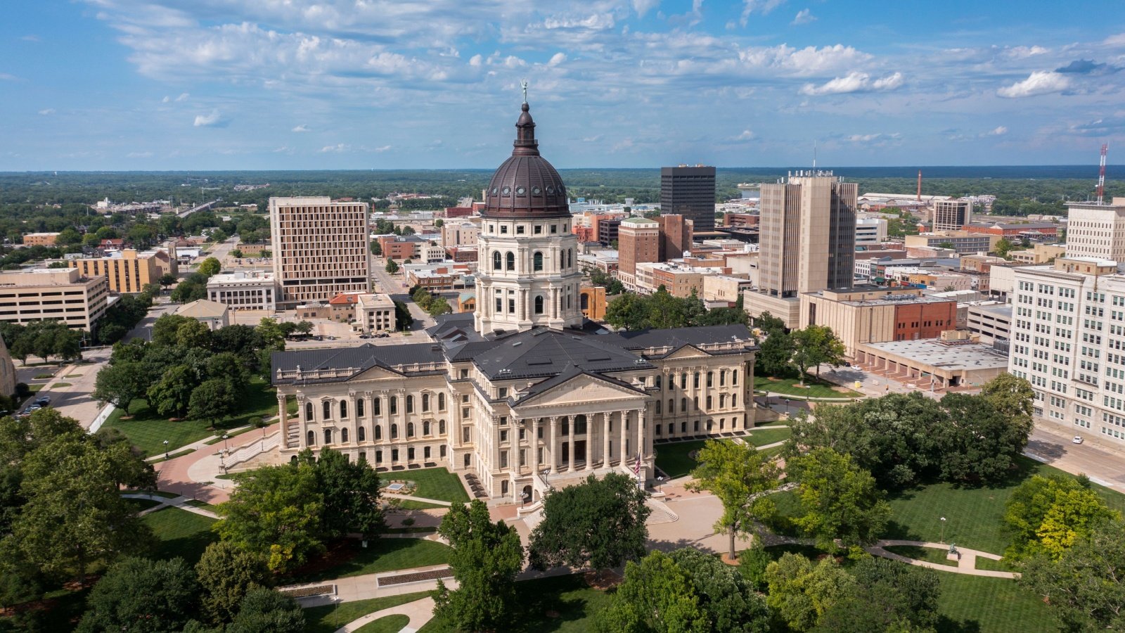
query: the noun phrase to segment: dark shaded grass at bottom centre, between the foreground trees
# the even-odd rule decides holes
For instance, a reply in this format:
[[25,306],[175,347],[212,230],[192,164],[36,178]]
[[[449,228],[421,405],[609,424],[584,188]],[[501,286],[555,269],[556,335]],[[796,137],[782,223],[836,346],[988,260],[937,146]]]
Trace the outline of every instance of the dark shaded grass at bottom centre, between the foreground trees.
[[[516,612],[504,631],[515,633],[585,633],[593,631],[594,615],[609,606],[611,594],[586,585],[582,574],[557,576],[515,583]],[[433,618],[418,633],[456,631]]]

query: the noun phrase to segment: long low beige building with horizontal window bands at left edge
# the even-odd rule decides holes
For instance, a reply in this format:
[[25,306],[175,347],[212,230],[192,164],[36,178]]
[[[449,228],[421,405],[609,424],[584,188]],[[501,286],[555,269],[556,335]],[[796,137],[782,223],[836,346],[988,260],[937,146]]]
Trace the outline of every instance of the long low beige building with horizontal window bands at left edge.
[[93,331],[109,306],[109,282],[75,268],[0,273],[0,321],[57,320]]

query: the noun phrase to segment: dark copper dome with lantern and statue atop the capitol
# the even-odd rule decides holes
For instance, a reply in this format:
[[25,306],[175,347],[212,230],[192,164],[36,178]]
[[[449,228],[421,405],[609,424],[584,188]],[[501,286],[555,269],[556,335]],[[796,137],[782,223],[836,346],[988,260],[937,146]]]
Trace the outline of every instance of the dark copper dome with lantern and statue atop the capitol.
[[523,104],[522,109],[515,123],[512,158],[493,173],[485,190],[485,211],[480,215],[497,219],[569,217],[562,178],[551,163],[539,155],[536,122],[531,119],[528,104]]

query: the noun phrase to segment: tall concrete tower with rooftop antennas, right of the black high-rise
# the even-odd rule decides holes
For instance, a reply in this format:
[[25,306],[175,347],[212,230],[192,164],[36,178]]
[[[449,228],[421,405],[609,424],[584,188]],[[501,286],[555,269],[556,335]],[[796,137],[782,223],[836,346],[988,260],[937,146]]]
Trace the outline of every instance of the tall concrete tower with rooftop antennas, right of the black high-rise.
[[858,185],[830,171],[798,172],[762,185],[758,291],[750,316],[770,312],[798,327],[800,293],[850,288]]

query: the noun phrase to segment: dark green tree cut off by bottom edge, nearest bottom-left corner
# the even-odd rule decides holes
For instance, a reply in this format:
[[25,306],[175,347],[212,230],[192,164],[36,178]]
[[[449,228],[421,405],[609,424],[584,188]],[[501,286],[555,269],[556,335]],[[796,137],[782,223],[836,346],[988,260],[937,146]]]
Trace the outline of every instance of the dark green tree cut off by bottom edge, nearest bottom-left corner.
[[195,613],[197,591],[183,559],[123,559],[93,586],[78,632],[181,631]]

